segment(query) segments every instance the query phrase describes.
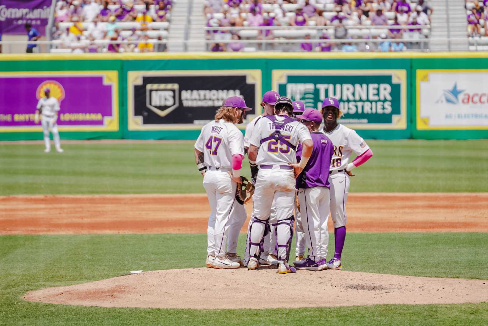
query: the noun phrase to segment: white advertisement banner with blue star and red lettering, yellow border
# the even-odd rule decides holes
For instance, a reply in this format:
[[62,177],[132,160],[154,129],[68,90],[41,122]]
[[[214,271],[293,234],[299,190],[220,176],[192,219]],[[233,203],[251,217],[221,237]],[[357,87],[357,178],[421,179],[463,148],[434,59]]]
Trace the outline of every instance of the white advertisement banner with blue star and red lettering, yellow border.
[[422,70],[417,130],[488,129],[488,70]]

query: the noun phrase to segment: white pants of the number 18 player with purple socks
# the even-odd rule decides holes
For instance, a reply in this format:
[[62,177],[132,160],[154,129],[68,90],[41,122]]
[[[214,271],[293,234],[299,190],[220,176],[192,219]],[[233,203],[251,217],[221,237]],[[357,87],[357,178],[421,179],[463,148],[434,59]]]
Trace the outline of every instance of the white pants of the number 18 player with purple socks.
[[335,172],[329,175],[330,183],[330,217],[334,228],[346,225],[346,202],[350,180],[346,172]]

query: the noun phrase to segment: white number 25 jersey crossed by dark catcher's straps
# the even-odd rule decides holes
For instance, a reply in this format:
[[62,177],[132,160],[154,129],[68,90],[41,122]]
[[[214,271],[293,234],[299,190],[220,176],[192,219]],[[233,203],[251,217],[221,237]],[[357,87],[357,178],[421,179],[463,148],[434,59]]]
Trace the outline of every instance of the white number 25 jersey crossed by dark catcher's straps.
[[[284,116],[274,115],[274,118],[279,121],[285,120]],[[262,117],[254,126],[252,136],[249,140],[251,145],[259,148],[258,157],[256,159],[257,165],[274,165],[274,164],[288,164],[297,163],[295,151],[287,145],[279,141],[268,140],[261,144],[261,139],[273,134],[275,127],[270,119]],[[281,129],[281,134],[285,136],[286,140],[294,146],[304,142],[307,139],[312,139],[310,133],[304,124],[293,121],[286,124]]]

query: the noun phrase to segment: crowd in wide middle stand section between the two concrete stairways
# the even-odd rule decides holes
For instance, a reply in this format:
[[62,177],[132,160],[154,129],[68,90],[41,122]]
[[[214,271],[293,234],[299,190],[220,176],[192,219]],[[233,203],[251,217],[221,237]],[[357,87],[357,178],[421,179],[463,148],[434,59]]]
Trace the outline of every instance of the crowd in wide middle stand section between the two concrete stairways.
[[[206,37],[213,41],[210,51],[403,51],[420,44],[403,39],[428,37],[432,12],[427,0],[206,0],[203,8],[208,27]],[[249,26],[304,27],[253,30]],[[212,30],[212,27],[244,28]],[[281,45],[242,41],[276,38],[305,41]],[[372,38],[385,40],[373,42]],[[334,39],[362,41],[344,43]]]

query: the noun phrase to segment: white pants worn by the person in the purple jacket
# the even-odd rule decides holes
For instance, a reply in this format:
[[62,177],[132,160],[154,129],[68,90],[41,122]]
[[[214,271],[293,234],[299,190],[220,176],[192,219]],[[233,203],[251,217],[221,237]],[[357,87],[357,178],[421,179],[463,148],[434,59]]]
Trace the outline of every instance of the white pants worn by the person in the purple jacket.
[[327,256],[330,191],[326,187],[301,188],[298,198],[308,255],[318,262]]

